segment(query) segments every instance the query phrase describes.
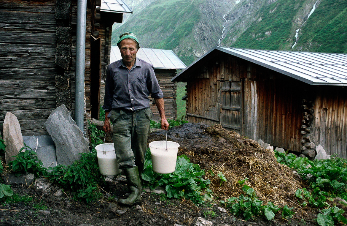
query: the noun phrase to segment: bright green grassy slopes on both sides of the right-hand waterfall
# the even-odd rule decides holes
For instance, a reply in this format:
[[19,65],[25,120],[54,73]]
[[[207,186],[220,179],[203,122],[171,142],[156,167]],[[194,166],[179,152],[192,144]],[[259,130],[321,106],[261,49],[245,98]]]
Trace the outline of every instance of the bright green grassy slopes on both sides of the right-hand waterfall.
[[[234,42],[228,34],[222,45],[269,50],[347,53],[347,0],[322,0],[304,25],[294,49],[295,24],[307,0],[278,0],[257,11],[255,22]],[[307,10],[306,10],[307,11]],[[296,27],[296,29],[294,29]]]

